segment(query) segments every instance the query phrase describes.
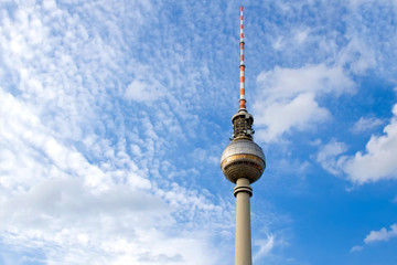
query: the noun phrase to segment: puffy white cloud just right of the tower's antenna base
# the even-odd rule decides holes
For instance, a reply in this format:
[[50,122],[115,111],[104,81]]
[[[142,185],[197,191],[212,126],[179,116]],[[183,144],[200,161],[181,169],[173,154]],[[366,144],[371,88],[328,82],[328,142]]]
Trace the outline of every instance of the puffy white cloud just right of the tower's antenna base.
[[262,72],[257,77],[258,97],[254,103],[257,137],[277,141],[291,129],[305,130],[331,117],[318,97],[354,93],[354,83],[342,67],[324,64],[302,68]]

